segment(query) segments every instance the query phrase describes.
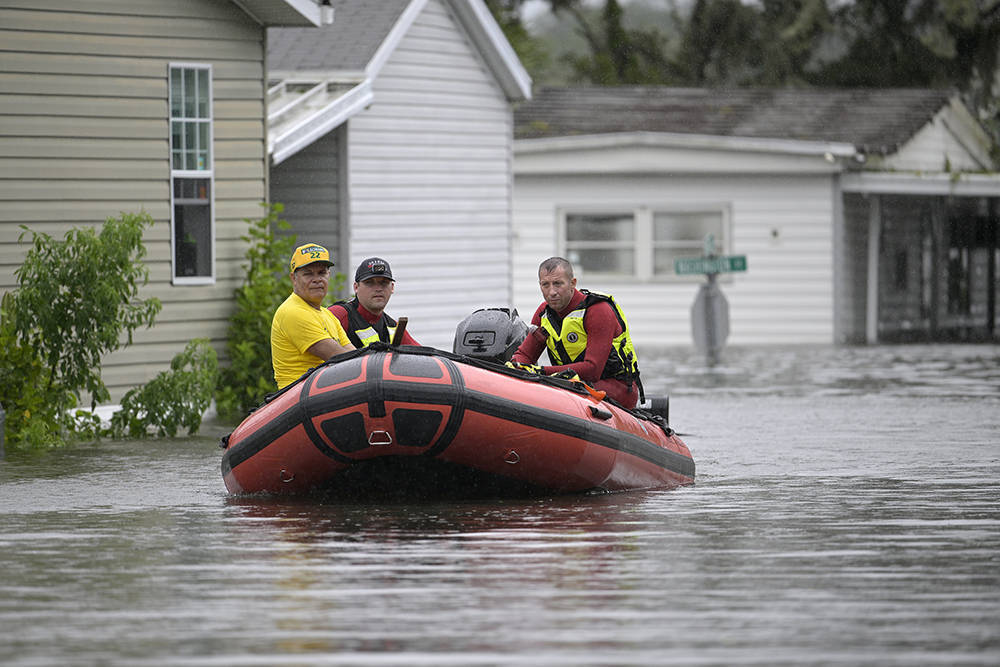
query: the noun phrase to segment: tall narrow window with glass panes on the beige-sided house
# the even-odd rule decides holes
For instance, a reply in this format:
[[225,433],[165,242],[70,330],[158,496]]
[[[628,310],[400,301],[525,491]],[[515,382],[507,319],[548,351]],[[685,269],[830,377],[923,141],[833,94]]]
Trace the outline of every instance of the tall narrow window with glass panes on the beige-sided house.
[[212,155],[212,70],[170,66],[170,178],[175,283],[212,282],[215,224]]

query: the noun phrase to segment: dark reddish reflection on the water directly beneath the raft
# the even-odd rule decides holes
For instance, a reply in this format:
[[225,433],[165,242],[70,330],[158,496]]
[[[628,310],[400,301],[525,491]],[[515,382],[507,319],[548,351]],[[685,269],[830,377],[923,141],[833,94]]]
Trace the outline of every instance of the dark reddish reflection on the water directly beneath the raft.
[[[455,559],[463,569],[476,563],[476,569],[508,571],[518,563],[515,555],[560,567],[574,559],[607,562],[630,542],[634,548],[637,508],[664,493],[671,492],[382,503],[228,496],[226,505],[231,527],[259,545],[255,557],[263,549],[310,567],[336,563],[345,575],[377,566],[405,577],[415,566],[407,553],[423,563],[425,574],[447,570]],[[400,559],[385,560],[390,554]]]

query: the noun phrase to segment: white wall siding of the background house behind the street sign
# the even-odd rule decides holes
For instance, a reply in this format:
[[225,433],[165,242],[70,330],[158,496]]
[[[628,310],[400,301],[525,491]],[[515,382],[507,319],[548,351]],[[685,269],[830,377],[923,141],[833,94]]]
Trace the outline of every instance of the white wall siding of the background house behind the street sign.
[[[515,180],[514,302],[528,319],[541,301],[537,268],[563,252],[558,210],[587,206],[728,208],[728,252],[746,273],[720,276],[729,302],[730,344],[827,343],[833,337],[833,188],[829,175],[572,175]],[[691,306],[703,278],[578,285],[610,292],[637,346],[690,345]]]

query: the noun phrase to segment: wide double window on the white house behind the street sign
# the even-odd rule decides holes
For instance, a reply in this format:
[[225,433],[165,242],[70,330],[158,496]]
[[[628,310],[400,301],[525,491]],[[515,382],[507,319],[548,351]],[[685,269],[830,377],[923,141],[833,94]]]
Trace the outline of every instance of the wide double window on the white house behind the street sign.
[[674,260],[701,256],[708,234],[718,254],[725,254],[729,247],[729,214],[724,205],[567,210],[562,217],[566,259],[588,275],[675,279]]

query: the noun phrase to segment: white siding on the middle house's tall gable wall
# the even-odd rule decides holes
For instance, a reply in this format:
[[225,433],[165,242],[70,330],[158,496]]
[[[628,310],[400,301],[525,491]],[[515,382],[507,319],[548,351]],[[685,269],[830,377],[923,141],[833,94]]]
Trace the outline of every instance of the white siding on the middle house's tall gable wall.
[[512,113],[451,10],[431,0],[348,124],[348,267],[392,264],[389,311],[451,349],[477,308],[510,303]]

